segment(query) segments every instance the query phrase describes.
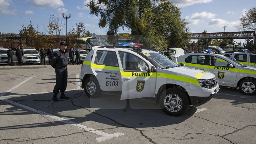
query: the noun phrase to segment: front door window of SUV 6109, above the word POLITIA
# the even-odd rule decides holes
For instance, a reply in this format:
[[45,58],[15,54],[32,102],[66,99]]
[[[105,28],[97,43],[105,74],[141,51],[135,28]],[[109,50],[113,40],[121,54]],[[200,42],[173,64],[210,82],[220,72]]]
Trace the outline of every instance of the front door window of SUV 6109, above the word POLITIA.
[[126,53],[126,52],[119,52],[119,56],[120,56],[124,71],[125,70],[129,70],[129,71],[148,71],[149,70],[148,64],[133,54]]

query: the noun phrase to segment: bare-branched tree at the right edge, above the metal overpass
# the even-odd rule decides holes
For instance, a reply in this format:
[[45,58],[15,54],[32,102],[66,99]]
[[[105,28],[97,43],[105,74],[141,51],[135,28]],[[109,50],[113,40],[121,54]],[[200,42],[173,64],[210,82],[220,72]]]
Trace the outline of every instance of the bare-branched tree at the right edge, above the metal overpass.
[[238,28],[243,31],[256,31],[256,7],[242,15]]

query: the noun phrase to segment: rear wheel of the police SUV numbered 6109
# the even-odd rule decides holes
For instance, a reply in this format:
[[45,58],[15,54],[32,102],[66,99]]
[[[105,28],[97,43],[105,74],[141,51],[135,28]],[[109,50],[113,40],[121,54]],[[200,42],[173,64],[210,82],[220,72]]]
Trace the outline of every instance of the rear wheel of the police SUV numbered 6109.
[[100,89],[100,85],[98,84],[98,80],[95,77],[90,76],[89,78],[87,78],[85,80],[84,84],[85,84],[84,85],[85,94],[88,97],[96,98],[96,97],[99,97],[101,95],[102,90]]

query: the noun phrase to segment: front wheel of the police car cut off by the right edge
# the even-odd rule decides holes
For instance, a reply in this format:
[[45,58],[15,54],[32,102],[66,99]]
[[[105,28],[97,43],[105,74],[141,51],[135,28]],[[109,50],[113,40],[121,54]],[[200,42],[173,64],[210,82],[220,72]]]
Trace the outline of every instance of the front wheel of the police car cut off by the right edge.
[[239,83],[239,90],[245,95],[256,94],[256,81],[253,79],[244,79]]

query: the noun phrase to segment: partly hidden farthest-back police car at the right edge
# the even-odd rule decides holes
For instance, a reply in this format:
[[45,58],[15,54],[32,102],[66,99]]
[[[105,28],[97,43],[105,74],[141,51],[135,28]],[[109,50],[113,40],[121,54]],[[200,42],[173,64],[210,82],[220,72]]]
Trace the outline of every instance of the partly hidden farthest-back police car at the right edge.
[[225,55],[226,57],[229,57],[229,55],[233,55],[237,62],[244,65],[256,67],[256,52],[225,52],[222,53],[222,55]]

